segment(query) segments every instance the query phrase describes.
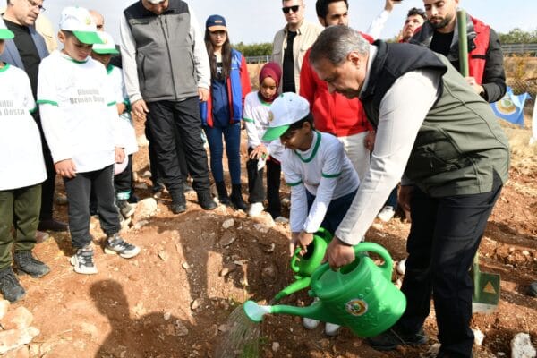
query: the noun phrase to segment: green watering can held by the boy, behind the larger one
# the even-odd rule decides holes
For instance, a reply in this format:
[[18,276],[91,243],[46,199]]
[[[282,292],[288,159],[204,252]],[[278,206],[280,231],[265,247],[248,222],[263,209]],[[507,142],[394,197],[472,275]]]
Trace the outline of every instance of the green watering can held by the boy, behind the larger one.
[[275,297],[274,302],[310,286],[311,275],[320,267],[320,263],[327,251],[328,243],[332,240],[332,234],[320,227],[317,233],[313,234],[313,241],[308,245],[308,251],[304,256],[300,256],[300,247],[294,251],[291,259],[291,269],[294,271],[294,283],[286,286]]

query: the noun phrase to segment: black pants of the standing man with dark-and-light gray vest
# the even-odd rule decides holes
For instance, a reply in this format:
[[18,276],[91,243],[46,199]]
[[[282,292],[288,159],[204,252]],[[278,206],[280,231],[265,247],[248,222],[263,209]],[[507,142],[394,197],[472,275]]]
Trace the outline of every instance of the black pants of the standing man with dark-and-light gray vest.
[[162,175],[168,191],[183,191],[183,174],[179,156],[179,143],[183,144],[184,158],[192,175],[196,192],[209,191],[207,153],[201,141],[200,107],[197,97],[181,102],[158,101],[148,103],[149,142],[157,158],[158,173]]

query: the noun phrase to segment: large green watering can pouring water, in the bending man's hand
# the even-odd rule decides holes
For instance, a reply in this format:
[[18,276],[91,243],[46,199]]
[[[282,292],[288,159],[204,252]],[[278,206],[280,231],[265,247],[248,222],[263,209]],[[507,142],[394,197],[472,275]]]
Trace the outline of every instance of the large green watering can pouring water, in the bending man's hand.
[[[382,266],[360,252],[370,251],[384,259]],[[250,320],[260,322],[268,313],[308,317],[351,328],[358,337],[374,337],[392,327],[406,308],[405,295],[391,283],[393,260],[376,243],[354,246],[356,259],[339,271],[328,263],[311,276],[310,295],[319,297],[308,307],[287,305],[261,306],[252,301],[243,310]]]

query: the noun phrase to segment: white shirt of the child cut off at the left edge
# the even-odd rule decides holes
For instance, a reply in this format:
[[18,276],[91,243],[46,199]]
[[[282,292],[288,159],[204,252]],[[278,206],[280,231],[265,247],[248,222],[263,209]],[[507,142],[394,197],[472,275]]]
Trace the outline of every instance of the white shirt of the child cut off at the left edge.
[[24,188],[47,179],[30,79],[21,69],[0,69],[0,191]]

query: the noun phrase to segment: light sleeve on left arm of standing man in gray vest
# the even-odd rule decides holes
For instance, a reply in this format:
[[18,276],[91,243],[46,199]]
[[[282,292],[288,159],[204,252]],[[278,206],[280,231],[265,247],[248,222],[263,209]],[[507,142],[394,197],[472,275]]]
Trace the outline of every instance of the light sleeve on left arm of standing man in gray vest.
[[134,102],[141,98],[140,82],[138,81],[138,68],[136,65],[136,42],[132,36],[131,28],[122,15],[119,21],[121,61],[124,72],[125,89],[129,100]]

